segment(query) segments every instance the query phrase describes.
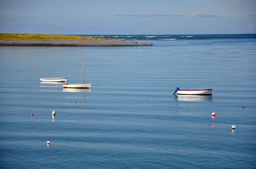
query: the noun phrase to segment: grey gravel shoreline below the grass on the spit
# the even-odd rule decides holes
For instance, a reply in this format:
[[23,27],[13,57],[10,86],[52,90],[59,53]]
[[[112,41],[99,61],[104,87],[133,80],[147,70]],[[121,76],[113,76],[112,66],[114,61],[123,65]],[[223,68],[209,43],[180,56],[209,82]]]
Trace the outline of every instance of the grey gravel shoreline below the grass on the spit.
[[146,42],[110,40],[0,40],[0,46],[151,46]]

